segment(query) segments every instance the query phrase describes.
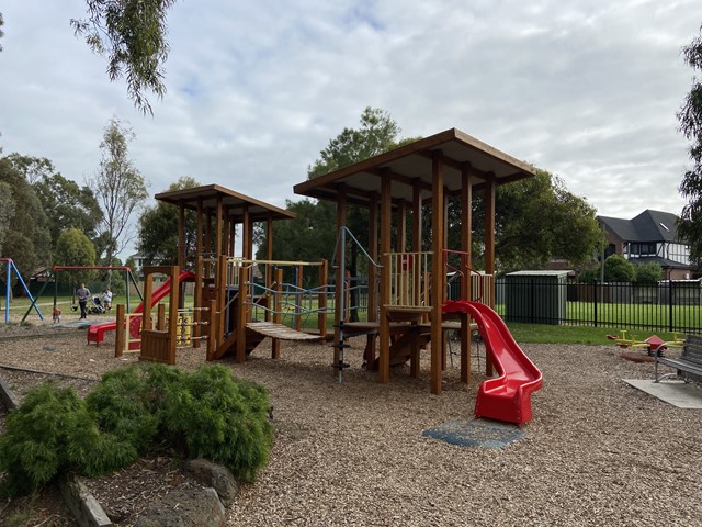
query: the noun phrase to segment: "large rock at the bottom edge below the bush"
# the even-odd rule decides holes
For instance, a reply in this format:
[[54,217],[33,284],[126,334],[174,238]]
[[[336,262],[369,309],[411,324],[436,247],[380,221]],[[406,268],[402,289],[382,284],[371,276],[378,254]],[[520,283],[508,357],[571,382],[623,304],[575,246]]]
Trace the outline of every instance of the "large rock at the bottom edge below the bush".
[[224,527],[225,509],[214,489],[176,490],[146,509],[134,527]]

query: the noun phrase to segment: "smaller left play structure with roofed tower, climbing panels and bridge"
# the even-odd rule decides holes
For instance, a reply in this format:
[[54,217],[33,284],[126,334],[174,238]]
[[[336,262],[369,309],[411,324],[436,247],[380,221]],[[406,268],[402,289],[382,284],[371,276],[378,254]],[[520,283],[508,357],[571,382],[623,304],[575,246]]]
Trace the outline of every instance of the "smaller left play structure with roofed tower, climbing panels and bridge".
[[[117,329],[115,352],[139,349],[140,359],[174,363],[178,345],[200,347],[206,343],[207,360],[235,356],[242,362],[267,336],[272,338],[271,355],[280,357],[282,339],[320,339],[327,327],[327,264],[275,261],[272,255],[272,223],[293,218],[288,211],[278,209],[253,198],[225,189],[217,184],[163,192],[157,200],[179,208],[179,254],[174,267],[145,267],[145,300],[136,314],[118,311],[117,322],[90,329],[89,341],[99,344],[107,330]],[[194,255],[185,253],[185,211],[196,213]],[[265,224],[269,259],[253,259],[253,225]],[[235,246],[235,233],[240,228],[240,245]],[[241,256],[235,256],[235,254]],[[185,270],[185,261],[194,262],[194,270]],[[302,288],[303,268],[318,268],[320,285]],[[293,270],[296,284],[284,289],[283,269]],[[155,274],[169,278],[152,290]],[[258,277],[262,274],[262,277]],[[192,307],[185,307],[179,284],[194,282]],[[290,288],[296,288],[291,293]],[[317,334],[302,330],[302,301],[309,294],[318,304]],[[286,299],[297,299],[291,305]],[[159,301],[168,298],[165,306],[151,316]],[[120,306],[117,306],[120,307]],[[307,313],[310,310],[305,310]],[[283,325],[282,317],[292,313],[293,328]],[[257,317],[262,317],[259,321]],[[127,322],[129,317],[129,322]],[[122,321],[121,323],[118,321]],[[128,328],[128,332],[126,330]]]

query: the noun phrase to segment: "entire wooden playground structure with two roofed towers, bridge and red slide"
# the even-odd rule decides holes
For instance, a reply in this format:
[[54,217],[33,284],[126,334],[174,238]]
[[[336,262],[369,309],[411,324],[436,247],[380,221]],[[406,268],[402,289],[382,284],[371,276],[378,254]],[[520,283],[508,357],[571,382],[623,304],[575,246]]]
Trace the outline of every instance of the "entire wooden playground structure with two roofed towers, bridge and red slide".
[[[480,406],[488,410],[476,408],[476,413],[498,415],[496,418],[518,423],[529,421],[531,406],[526,400],[541,386],[541,373],[516,347],[507,328],[500,325],[499,317],[480,310],[475,302],[488,307],[494,305],[496,189],[499,184],[533,175],[531,166],[452,128],[295,186],[298,194],[336,202],[337,229],[342,242],[337,244],[329,269],[333,272],[332,280],[327,279],[324,261],[273,260],[272,222],[294,217],[288,211],[216,184],[157,194],[157,200],[179,208],[179,256],[178,266],[168,270],[171,277],[169,315],[159,315],[155,329],[169,335],[169,345],[147,346],[145,340],[140,357],[174,361],[173,346],[179,338],[188,340],[178,335],[176,304],[182,304],[182,296],[176,294],[173,283],[188,261],[185,211],[190,210],[196,212],[194,260],[190,255],[195,262],[195,311],[190,335],[195,337],[194,343],[206,340],[208,360],[233,355],[237,362],[242,362],[264,336],[272,337],[273,358],[280,355],[280,339],[324,337],[331,303],[335,314],[332,367],[339,380],[348,367],[343,362],[343,349],[348,346],[344,339],[365,335],[365,363],[377,369],[382,383],[389,382],[393,363],[409,361],[410,374],[417,377],[421,349],[430,346],[430,389],[438,394],[442,390],[442,371],[446,367],[445,333],[451,329],[460,332],[461,380],[469,383],[471,337],[472,330],[477,328],[489,351],[487,374],[492,374],[495,362],[502,384],[501,388],[483,389],[480,399],[488,402]],[[473,269],[471,257],[474,192],[484,193],[485,204],[485,270],[479,272]],[[455,248],[448,246],[449,200],[456,200],[461,205],[460,247]],[[349,205],[369,210],[369,245],[363,249],[369,260],[367,305],[362,313],[364,319],[354,322],[349,321],[353,283],[344,269],[347,235],[358,244],[347,228]],[[422,212],[427,209],[431,214],[431,233],[424,234]],[[407,236],[408,217],[411,218],[411,239]],[[253,259],[256,222],[265,224],[265,260]],[[241,232],[239,257],[235,257],[237,227]],[[431,247],[424,250],[428,240]],[[316,291],[316,335],[303,333],[298,319],[294,328],[280,324],[280,316],[285,311],[280,300],[280,268],[286,265],[294,267],[298,274],[305,266],[319,267],[317,289],[298,292],[304,296]],[[262,271],[262,280],[257,280],[257,270]],[[165,269],[158,271],[166,272]],[[146,272],[150,272],[149,268]],[[463,302],[461,309],[455,305],[450,309],[446,304],[450,281],[458,283],[457,300]],[[145,301],[145,305],[150,306],[150,301]],[[295,310],[298,307],[296,303]],[[264,321],[256,319],[258,310],[262,310]],[[473,318],[477,325],[472,323]],[[147,321],[150,317],[144,316],[143,330],[148,332],[151,327]],[[118,326],[124,327],[123,324]],[[155,352],[151,348],[162,350]],[[519,395],[496,399],[495,394],[500,390]],[[496,413],[498,400],[510,410]]]

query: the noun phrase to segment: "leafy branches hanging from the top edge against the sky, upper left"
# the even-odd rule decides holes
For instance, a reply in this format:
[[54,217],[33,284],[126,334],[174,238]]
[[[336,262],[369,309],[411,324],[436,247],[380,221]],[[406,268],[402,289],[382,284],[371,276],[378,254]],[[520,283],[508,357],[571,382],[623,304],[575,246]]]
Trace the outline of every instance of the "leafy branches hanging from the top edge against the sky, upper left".
[[163,64],[168,58],[166,14],[176,0],[87,0],[88,18],[71,19],[77,36],[106,55],[107,75],[127,80],[135,106],[152,114],[146,92],[166,93]]

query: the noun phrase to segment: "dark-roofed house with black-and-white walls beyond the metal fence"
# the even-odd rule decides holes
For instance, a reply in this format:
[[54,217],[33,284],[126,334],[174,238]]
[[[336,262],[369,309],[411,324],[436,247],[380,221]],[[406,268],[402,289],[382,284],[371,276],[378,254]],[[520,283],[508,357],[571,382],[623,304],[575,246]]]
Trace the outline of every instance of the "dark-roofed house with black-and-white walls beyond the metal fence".
[[678,216],[645,210],[632,220],[597,216],[608,246],[604,257],[621,255],[634,265],[655,262],[665,280],[692,278],[690,248],[678,238]]

